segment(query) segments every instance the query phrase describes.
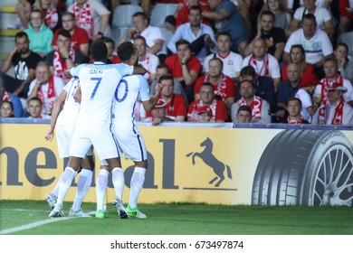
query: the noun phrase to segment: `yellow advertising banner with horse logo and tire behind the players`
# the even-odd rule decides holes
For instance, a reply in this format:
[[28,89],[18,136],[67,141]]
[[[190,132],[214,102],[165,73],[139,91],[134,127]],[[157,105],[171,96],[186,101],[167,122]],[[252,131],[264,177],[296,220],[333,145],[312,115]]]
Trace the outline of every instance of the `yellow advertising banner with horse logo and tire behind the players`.
[[[352,131],[138,127],[148,147],[139,202],[353,206]],[[56,141],[44,140],[46,129],[0,124],[0,200],[44,200],[58,182],[65,162]],[[128,202],[134,167],[124,157],[122,166]],[[77,178],[65,201],[73,201]],[[111,182],[107,195],[112,201]],[[95,200],[92,182],[85,201]]]

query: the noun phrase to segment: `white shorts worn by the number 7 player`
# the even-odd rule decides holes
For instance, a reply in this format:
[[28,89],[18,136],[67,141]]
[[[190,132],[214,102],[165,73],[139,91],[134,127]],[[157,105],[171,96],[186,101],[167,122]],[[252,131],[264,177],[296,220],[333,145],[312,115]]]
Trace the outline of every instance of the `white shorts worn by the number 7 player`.
[[70,155],[84,157],[93,145],[100,160],[119,157],[119,146],[110,130],[110,124],[104,121],[79,123],[75,127],[70,145]]

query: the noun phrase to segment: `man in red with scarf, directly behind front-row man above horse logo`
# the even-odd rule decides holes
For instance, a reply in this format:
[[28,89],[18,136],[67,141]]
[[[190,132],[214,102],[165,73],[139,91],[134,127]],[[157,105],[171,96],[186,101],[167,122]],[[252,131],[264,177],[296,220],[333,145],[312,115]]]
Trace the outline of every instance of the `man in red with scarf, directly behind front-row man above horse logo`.
[[219,58],[213,58],[208,61],[208,74],[198,78],[195,83],[195,99],[200,98],[200,87],[204,82],[210,82],[214,85],[215,96],[221,98],[227,108],[235,102],[235,83],[230,77],[223,73],[223,61]]

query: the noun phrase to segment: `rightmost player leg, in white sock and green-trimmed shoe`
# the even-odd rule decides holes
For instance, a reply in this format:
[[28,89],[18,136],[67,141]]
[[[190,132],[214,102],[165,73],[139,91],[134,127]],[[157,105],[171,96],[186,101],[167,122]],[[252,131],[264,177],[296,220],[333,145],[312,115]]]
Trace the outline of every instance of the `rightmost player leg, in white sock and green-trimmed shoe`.
[[129,217],[136,217],[145,219],[147,216],[141,211],[138,211],[138,195],[142,190],[143,183],[145,183],[145,174],[148,168],[148,160],[142,162],[135,162],[134,173],[131,176],[130,182],[130,197],[127,211]]

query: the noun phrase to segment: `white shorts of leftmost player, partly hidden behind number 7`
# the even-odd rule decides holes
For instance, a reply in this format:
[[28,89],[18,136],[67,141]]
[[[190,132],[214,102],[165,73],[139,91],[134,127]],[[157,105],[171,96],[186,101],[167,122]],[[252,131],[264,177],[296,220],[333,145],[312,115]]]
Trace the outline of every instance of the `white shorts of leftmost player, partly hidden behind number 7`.
[[[71,125],[57,125],[56,127],[56,142],[58,144],[58,151],[60,158],[69,157],[70,144],[72,142],[72,135],[75,126]],[[93,147],[89,149],[87,155],[93,155]]]

